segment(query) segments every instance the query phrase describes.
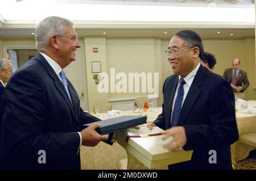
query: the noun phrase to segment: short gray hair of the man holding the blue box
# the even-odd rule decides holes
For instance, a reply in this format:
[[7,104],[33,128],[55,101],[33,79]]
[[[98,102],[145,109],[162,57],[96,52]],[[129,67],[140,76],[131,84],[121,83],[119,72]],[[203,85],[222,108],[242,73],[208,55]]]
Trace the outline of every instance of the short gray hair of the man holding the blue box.
[[35,30],[36,48],[39,51],[46,50],[51,35],[64,35],[66,33],[63,26],[73,26],[73,23],[59,16],[49,16],[39,22]]

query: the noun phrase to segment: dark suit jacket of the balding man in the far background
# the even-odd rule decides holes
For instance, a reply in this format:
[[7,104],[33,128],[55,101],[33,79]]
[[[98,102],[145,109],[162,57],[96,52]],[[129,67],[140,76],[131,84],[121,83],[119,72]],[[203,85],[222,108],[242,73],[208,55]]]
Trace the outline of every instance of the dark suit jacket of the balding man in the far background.
[[[232,83],[232,79],[233,79],[233,69],[226,69],[224,71],[223,77],[229,82]],[[247,87],[249,87],[250,82],[247,78],[247,73],[246,71],[243,71],[240,69],[239,73],[238,73],[238,77],[237,77],[237,86],[242,86],[243,87],[243,91],[245,91],[247,89]]]

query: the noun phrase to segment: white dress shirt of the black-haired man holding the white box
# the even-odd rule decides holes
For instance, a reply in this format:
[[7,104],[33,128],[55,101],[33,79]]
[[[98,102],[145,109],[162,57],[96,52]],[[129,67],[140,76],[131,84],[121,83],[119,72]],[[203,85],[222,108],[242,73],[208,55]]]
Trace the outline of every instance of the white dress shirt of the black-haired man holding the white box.
[[[184,103],[184,100],[188,94],[188,91],[190,89],[190,86],[192,85],[192,82],[193,82],[193,79],[195,78],[196,76],[196,73],[200,67],[200,62],[199,64],[196,66],[196,68],[194,70],[191,71],[191,73],[189,73],[186,77],[184,77],[184,81],[186,82],[184,85],[183,85],[183,89],[184,89],[184,96],[183,96],[183,100],[182,100],[182,104],[181,104],[181,108],[183,106],[183,103]],[[177,90],[179,89],[179,86],[180,86],[180,79],[182,77],[179,75],[179,81],[177,82],[177,87],[176,87],[176,90],[175,90],[175,94],[174,94],[174,100],[172,101],[172,112],[174,112],[174,104],[175,104],[175,100],[176,100],[176,97],[177,97]],[[171,120],[172,120],[172,113],[171,113]]]

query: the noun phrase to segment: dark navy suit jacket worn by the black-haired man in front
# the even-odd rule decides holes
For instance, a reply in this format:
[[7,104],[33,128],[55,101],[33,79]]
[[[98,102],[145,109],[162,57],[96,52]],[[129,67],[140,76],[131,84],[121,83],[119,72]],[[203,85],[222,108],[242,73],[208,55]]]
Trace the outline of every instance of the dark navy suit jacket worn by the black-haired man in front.
[[[164,82],[163,112],[154,121],[162,129],[170,128],[178,79],[174,74]],[[183,149],[193,150],[193,154],[191,161],[170,165],[170,169],[232,169],[230,145],[238,139],[238,131],[234,94],[224,78],[200,65],[184,100],[177,126],[185,128],[187,144]],[[209,163],[210,150],[216,151],[217,163]]]

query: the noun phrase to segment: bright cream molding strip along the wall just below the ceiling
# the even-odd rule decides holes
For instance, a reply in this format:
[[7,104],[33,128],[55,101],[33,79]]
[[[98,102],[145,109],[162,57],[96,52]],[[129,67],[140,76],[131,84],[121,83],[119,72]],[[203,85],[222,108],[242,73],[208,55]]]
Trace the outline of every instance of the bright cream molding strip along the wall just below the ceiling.
[[[36,20],[5,20],[0,15],[2,28],[35,28]],[[254,22],[142,22],[142,21],[81,21],[74,20],[75,28],[254,28]]]

